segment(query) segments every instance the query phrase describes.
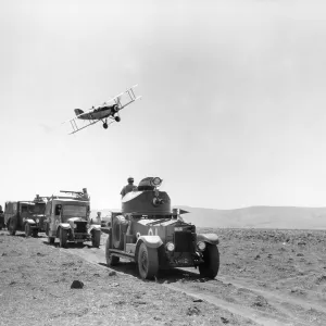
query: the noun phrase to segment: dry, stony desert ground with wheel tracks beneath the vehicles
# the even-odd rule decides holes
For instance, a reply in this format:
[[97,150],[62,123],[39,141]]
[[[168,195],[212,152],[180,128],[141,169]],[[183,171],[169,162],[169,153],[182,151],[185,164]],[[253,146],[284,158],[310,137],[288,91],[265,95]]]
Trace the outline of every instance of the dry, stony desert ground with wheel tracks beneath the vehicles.
[[[0,231],[0,325],[326,325],[326,231],[199,229],[220,236],[221,268],[152,281],[102,246],[47,244]],[[72,289],[74,280],[83,283]]]

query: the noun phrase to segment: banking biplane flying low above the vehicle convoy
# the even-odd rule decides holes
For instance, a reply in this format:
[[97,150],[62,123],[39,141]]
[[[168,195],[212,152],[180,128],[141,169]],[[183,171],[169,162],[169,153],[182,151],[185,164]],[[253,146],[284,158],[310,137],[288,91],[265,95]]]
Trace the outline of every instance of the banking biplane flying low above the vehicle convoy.
[[[120,111],[141,98],[141,97],[136,97],[134,91],[135,87],[137,87],[137,85],[134,85],[133,87],[128,88],[126,91],[104,102],[102,105],[96,108],[92,106],[90,110],[86,112],[84,112],[80,109],[75,109],[74,111],[76,116],[68,121],[73,128],[70,135],[80,131],[82,129],[85,129],[98,122],[103,123],[104,129],[108,129],[110,124],[114,122],[120,122],[121,121]],[[111,121],[109,121],[108,123],[108,120]],[[80,126],[78,125],[80,124],[79,121],[84,121],[86,122],[86,124]]]

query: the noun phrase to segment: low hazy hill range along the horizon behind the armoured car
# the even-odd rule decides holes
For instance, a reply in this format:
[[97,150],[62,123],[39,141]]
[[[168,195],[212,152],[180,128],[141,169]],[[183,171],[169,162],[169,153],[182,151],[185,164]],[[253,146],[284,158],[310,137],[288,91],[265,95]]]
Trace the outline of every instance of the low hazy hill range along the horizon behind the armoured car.
[[[184,218],[198,227],[326,229],[326,208],[250,206],[236,210],[214,210],[177,205],[190,212]],[[110,214],[110,209],[91,210]]]

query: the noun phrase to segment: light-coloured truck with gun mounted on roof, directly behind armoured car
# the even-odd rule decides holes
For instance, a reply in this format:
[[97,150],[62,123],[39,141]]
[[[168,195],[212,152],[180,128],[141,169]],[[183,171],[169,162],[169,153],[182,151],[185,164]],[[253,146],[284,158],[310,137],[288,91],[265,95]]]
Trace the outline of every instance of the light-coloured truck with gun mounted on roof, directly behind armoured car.
[[61,191],[71,196],[52,196],[46,208],[46,234],[49,243],[59,238],[60,247],[66,248],[68,241],[83,243],[92,242],[100,246],[101,226],[89,224],[90,205],[88,199],[83,199],[80,192]]

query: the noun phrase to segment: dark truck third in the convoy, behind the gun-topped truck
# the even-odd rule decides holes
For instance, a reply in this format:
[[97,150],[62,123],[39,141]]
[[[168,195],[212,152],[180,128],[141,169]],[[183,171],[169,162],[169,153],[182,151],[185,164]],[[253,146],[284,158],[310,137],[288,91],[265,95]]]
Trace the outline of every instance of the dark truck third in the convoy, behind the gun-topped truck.
[[4,223],[9,234],[25,231],[26,237],[37,237],[45,228],[46,197],[36,195],[34,201],[7,201]]

